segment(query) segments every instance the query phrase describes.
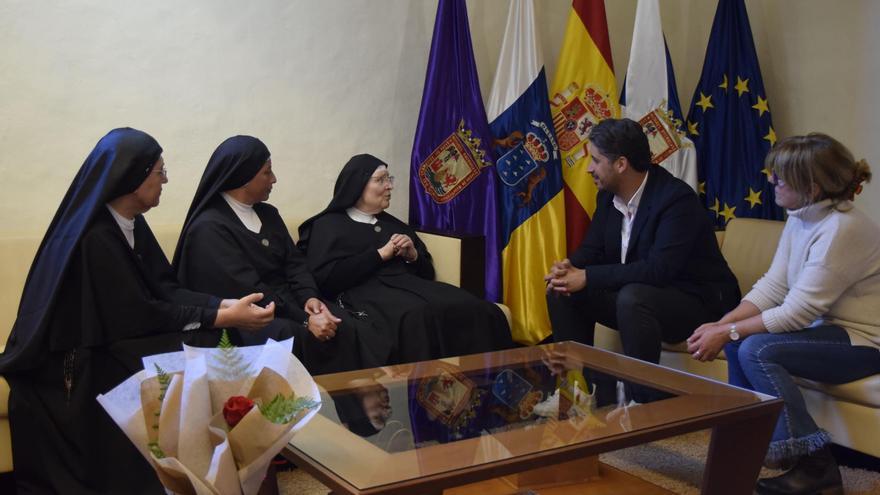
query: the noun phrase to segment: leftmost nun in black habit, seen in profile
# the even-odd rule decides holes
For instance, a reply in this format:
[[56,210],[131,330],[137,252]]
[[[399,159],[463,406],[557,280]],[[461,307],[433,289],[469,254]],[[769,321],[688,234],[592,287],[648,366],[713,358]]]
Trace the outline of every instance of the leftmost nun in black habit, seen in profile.
[[142,213],[168,182],[144,132],[104,136],[86,158],[37,250],[0,355],[10,384],[18,493],[162,493],[147,461],[95,397],[142,369],[140,358],[214,346],[211,327],[257,329],[262,297],[181,288]]

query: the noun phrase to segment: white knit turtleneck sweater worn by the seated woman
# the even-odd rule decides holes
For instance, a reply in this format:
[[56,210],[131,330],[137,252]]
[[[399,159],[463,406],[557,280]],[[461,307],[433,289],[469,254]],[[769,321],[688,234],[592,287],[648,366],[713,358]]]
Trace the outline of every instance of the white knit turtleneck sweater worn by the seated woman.
[[770,269],[746,294],[767,331],[839,325],[880,347],[880,227],[851,202],[789,210]]

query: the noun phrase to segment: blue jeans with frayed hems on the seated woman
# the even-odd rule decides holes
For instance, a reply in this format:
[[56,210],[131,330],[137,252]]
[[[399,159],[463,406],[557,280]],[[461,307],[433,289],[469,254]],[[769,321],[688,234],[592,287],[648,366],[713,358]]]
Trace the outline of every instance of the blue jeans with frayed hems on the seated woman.
[[791,459],[831,442],[804,403],[792,376],[823,383],[846,383],[880,373],[880,350],[854,346],[838,326],[750,335],[724,347],[731,385],[779,397],[785,403],[767,460]]

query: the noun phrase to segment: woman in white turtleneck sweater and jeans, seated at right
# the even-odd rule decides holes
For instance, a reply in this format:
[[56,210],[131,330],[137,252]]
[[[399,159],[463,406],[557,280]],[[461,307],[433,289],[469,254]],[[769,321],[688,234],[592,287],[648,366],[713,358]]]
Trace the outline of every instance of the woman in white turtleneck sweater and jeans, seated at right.
[[724,348],[731,384],[785,402],[767,462],[794,467],[758,480],[758,493],[833,493],[841,481],[831,438],[792,375],[846,383],[880,373],[880,227],[852,204],[871,171],[818,133],[780,141],[765,164],[788,210],[776,255],[739,306],[694,332],[688,351],[711,361]]

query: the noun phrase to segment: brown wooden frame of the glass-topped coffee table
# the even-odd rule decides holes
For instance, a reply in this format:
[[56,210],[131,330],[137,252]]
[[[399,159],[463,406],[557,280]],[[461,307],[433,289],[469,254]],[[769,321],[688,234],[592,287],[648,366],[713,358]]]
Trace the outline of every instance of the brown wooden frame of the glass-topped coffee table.
[[[594,370],[634,383],[646,384],[658,390],[672,393],[676,397],[632,408],[635,414],[650,413],[648,416],[655,418],[652,419],[653,424],[648,421],[646,423],[648,426],[639,427],[633,431],[363,489],[328,469],[308,452],[301,450],[297,446],[297,437],[294,437],[283,454],[301,469],[329,486],[334,493],[351,495],[439,494],[445,488],[507,476],[534,469],[536,466],[574,461],[603,452],[711,428],[712,436],[706,469],[703,473],[702,493],[713,495],[752,493],[776,425],[776,418],[782,409],[781,400],[767,398],[754,392],[574,342],[489,354],[495,355],[494,357],[504,363],[497,368],[506,368],[516,364],[533,363],[536,352],[551,350],[565,353],[573,360],[583,362]],[[484,357],[482,354],[463,356],[460,358],[460,368],[464,372],[486,369],[482,365]],[[363,371],[357,371],[323,375],[315,377],[315,380],[326,390],[339,391],[344,390],[345,384],[353,378],[362,376],[362,373]],[[420,378],[420,376],[416,374],[409,378]],[[705,406],[709,403],[714,405]],[[696,416],[676,419],[676,414],[678,414],[676,411],[681,410],[704,411]],[[316,419],[318,419],[317,416]],[[326,421],[329,422],[329,420]],[[298,435],[302,435],[310,426],[311,424],[307,425]],[[343,428],[339,426],[339,429]],[[504,432],[500,435],[505,434],[515,434],[515,432]],[[462,440],[444,445],[467,441]]]

